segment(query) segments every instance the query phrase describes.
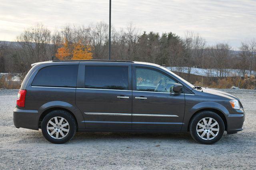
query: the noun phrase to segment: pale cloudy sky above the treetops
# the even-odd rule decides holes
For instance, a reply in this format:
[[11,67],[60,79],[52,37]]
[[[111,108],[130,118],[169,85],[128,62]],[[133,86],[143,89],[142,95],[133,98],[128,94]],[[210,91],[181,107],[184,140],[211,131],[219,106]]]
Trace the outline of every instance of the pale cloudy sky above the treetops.
[[[42,23],[49,30],[70,24],[108,23],[109,0],[0,0],[0,41],[15,41],[25,28]],[[256,0],[112,0],[112,26],[132,22],[140,31],[186,31],[209,45],[256,38]]]

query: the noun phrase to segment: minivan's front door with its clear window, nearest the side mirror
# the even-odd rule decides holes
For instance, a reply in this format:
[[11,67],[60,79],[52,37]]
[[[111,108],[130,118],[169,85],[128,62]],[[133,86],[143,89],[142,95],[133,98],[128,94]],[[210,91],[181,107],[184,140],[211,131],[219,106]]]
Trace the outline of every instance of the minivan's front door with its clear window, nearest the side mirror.
[[132,129],[180,130],[185,97],[184,93],[173,93],[177,81],[156,69],[135,66],[132,69]]

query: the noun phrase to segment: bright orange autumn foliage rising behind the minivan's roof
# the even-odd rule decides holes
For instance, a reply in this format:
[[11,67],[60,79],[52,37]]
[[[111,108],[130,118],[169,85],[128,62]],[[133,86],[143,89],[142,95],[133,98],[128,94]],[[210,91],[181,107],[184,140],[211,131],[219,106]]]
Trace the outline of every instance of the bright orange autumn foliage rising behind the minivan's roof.
[[63,47],[57,49],[56,57],[58,59],[92,59],[90,45],[83,45],[81,41],[69,44],[67,40],[63,43]]

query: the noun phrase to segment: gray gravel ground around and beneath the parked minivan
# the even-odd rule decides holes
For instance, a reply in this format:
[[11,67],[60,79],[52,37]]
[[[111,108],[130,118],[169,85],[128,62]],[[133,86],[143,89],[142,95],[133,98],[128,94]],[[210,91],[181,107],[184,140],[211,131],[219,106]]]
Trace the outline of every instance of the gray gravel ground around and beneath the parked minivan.
[[198,144],[189,133],[76,133],[57,145],[40,130],[15,128],[18,91],[0,90],[0,169],[255,169],[256,91],[223,91],[241,99],[246,122],[216,144]]

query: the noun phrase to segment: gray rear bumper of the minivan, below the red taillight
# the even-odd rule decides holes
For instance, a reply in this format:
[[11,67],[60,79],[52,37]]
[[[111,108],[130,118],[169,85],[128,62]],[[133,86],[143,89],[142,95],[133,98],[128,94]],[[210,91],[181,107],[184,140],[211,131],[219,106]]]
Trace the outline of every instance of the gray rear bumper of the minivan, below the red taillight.
[[22,110],[16,107],[13,111],[13,123],[18,128],[38,130],[38,111]]

